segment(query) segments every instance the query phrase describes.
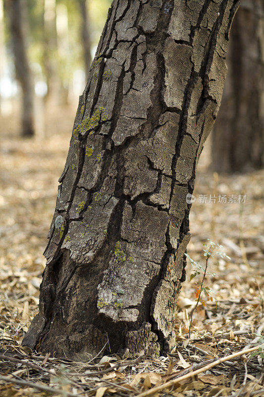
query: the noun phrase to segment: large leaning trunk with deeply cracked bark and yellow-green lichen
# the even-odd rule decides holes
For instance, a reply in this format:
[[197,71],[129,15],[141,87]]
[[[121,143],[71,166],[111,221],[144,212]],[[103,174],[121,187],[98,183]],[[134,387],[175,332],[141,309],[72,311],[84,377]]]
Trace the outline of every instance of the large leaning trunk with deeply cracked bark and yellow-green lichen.
[[[187,6],[188,5],[188,6]],[[186,195],[220,105],[236,0],[118,1],[79,107],[23,344],[68,357],[174,344]]]

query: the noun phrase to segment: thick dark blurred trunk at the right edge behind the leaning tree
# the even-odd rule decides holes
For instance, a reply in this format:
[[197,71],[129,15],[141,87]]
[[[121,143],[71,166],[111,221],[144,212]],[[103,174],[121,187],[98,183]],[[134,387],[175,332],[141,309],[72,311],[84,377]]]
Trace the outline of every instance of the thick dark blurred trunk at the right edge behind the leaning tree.
[[234,19],[223,100],[212,134],[217,172],[264,166],[264,1],[242,0]]

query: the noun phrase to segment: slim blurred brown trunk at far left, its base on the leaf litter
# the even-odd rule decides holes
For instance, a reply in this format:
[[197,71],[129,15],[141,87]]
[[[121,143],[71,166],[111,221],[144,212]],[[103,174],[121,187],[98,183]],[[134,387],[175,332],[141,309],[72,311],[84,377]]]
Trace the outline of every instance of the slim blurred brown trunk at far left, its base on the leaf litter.
[[10,17],[10,35],[12,40],[16,78],[22,88],[22,136],[34,135],[34,104],[31,71],[27,59],[23,31],[23,10],[21,0],[7,1]]

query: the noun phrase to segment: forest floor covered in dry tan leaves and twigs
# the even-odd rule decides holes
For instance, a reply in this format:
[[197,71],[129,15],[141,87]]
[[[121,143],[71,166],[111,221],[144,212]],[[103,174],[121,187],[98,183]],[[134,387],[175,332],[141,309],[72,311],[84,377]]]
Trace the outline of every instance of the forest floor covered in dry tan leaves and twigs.
[[[130,361],[102,354],[81,363],[20,346],[37,313],[42,253],[73,119],[72,109],[54,110],[47,136],[28,140],[18,136],[16,118],[0,120],[0,396],[264,396],[261,353],[243,353],[264,340],[264,170],[218,177],[208,168],[208,147],[198,169],[188,255],[205,266],[203,244],[210,239],[231,259],[209,260],[215,274],[205,283],[214,293],[212,300],[201,296],[205,306],[194,311],[190,335],[202,275],[189,282],[188,260],[175,314],[177,344],[167,357]],[[219,195],[227,202],[218,202]]]

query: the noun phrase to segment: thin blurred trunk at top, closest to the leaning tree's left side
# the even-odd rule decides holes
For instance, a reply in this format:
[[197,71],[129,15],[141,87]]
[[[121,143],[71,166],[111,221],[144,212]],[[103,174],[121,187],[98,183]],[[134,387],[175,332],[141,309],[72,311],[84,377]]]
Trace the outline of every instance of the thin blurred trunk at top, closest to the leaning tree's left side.
[[79,0],[80,11],[82,18],[82,44],[83,44],[83,55],[85,63],[85,75],[88,77],[92,58],[91,58],[91,43],[90,43],[90,33],[89,33],[89,15],[87,12],[86,0]]

